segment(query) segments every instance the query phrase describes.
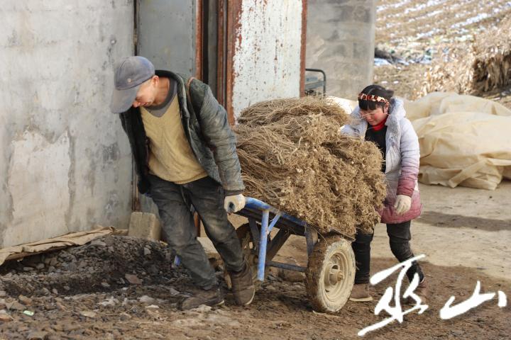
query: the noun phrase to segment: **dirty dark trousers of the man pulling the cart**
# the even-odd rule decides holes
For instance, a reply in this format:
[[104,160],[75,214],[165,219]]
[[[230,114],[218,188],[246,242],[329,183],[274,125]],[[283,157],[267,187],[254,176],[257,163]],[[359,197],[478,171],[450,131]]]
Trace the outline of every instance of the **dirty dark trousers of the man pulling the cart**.
[[163,232],[169,246],[189,270],[194,283],[205,289],[217,285],[214,269],[197,240],[193,205],[201,217],[206,234],[224,260],[228,271],[243,270],[243,254],[236,231],[224,210],[224,189],[210,177],[175,184],[149,176],[150,196],[158,206]]

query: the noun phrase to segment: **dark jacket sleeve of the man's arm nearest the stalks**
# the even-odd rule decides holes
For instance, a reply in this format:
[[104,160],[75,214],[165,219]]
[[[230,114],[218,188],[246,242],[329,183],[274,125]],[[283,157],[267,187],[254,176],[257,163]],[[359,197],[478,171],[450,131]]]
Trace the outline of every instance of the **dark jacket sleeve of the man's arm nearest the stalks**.
[[[196,82],[194,80],[192,84]],[[200,83],[200,81],[197,81]],[[241,193],[245,186],[241,179],[241,166],[236,154],[236,136],[229,126],[227,113],[211,93],[209,86],[202,84],[204,101],[197,113],[205,142],[213,150],[216,166],[226,194]],[[199,87],[199,86],[197,86]],[[192,96],[194,97],[194,96]],[[197,112],[197,111],[196,111]]]

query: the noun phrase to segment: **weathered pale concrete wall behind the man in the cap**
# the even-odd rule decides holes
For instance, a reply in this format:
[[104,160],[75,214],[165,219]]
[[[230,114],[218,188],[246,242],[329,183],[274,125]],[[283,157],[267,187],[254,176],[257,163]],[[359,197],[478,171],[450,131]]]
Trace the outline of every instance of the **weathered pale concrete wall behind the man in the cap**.
[[0,247],[127,227],[131,154],[109,112],[133,1],[3,1]]

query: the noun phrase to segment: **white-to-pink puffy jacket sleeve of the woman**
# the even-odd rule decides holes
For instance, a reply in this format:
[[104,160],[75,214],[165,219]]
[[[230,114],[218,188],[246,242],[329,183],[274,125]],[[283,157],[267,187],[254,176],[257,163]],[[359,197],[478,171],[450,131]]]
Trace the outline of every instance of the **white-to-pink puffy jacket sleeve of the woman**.
[[419,176],[419,138],[406,118],[402,120],[401,132],[401,174],[397,183],[397,195],[412,197],[417,176]]

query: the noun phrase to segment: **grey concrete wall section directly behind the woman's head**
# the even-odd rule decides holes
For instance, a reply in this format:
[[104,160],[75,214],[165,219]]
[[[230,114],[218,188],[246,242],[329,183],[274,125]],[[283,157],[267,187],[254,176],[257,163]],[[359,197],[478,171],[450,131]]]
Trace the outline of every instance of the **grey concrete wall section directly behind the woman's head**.
[[307,1],[307,68],[326,72],[326,92],[356,98],[373,82],[375,0]]

